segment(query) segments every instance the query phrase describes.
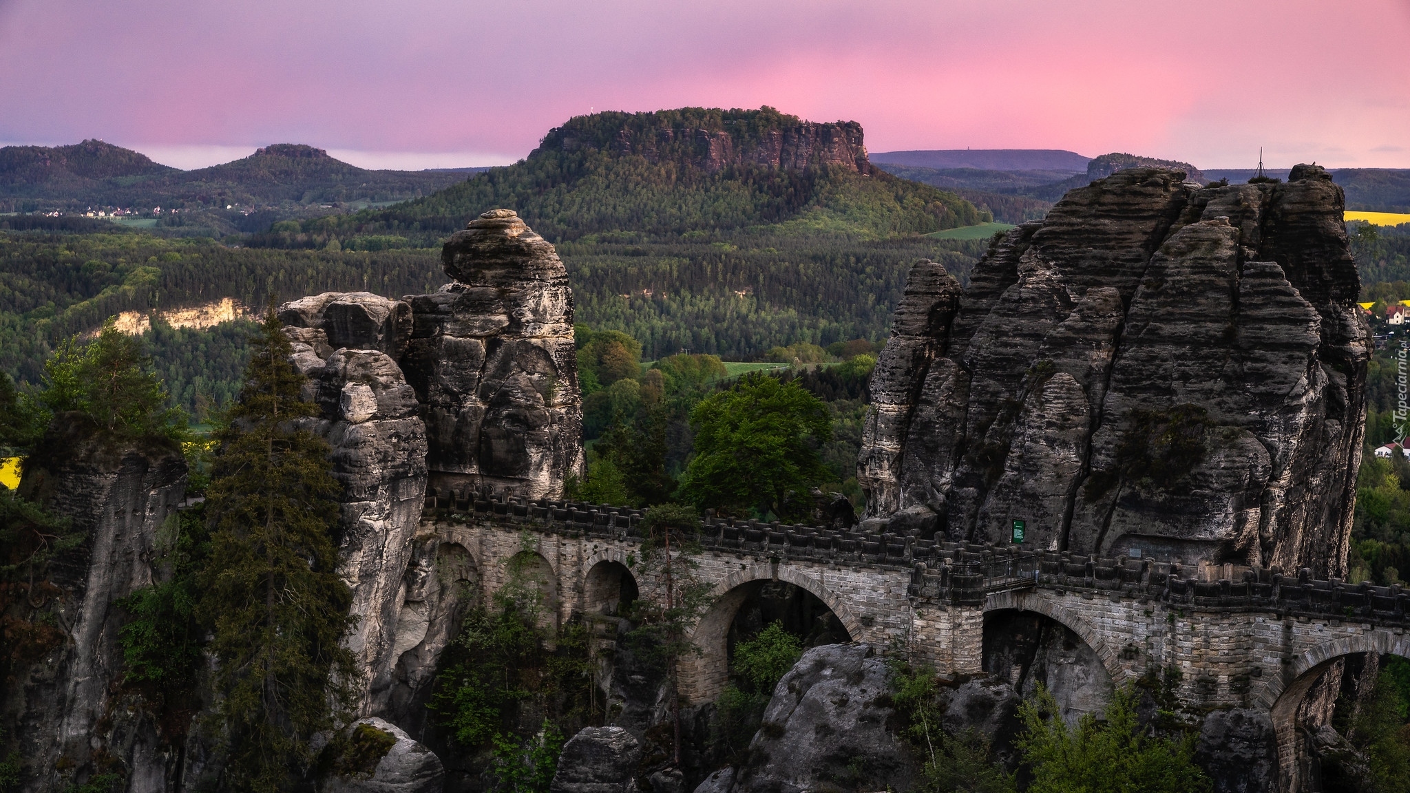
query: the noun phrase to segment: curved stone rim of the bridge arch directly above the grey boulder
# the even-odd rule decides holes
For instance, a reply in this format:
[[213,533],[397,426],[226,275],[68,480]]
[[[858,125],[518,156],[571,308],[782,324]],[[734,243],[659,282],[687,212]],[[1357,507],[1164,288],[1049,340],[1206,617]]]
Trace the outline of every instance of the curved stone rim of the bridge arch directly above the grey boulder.
[[729,679],[729,649],[726,646],[729,626],[740,605],[752,594],[747,584],[773,580],[794,584],[821,600],[838,617],[850,639],[863,635],[862,619],[847,607],[846,601],[808,573],[787,564],[753,564],[736,570],[715,584],[711,591],[713,604],[691,631],[691,642],[699,648],[701,653],[681,659],[677,666],[681,694],[688,701],[709,701],[725,690],[725,683]]

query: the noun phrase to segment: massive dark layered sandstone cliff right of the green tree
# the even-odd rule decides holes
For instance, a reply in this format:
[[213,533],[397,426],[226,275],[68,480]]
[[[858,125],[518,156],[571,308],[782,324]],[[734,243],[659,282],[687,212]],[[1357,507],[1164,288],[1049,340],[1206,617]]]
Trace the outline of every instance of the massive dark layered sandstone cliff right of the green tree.
[[1342,573],[1369,332],[1321,168],[1198,188],[1131,168],[918,264],[877,364],[870,519],[1084,555]]

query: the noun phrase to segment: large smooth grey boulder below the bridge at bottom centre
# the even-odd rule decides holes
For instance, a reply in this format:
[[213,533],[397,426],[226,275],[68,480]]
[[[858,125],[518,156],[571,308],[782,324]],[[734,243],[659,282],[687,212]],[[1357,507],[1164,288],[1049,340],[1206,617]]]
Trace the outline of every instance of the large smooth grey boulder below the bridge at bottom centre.
[[804,652],[778,680],[736,793],[905,790],[914,759],[888,728],[890,670],[870,645]]

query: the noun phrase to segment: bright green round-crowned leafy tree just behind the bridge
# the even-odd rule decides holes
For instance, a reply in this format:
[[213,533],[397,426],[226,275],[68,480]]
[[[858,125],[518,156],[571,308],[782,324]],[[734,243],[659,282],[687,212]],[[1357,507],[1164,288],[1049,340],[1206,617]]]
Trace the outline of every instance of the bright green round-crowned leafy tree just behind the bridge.
[[695,457],[681,492],[698,507],[787,519],[788,495],[829,476],[818,446],[832,439],[832,415],[797,382],[742,378],[697,405],[691,428]]

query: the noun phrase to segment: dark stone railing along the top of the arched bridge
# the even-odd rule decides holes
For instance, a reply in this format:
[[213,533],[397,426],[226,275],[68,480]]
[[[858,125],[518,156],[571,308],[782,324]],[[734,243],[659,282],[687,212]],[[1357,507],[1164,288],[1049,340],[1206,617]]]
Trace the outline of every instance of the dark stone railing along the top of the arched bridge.
[[[426,516],[489,521],[546,532],[643,539],[642,509],[571,501],[527,501],[488,494],[431,494]],[[1369,619],[1410,625],[1410,591],[1399,586],[1314,580],[1307,569],[1182,564],[1112,559],[1014,545],[980,545],[706,515],[701,545],[709,550],[835,564],[909,570],[909,594],[949,603],[983,603],[1014,588],[1077,590],[1155,598],[1191,610],[1256,610],[1294,617]]]

